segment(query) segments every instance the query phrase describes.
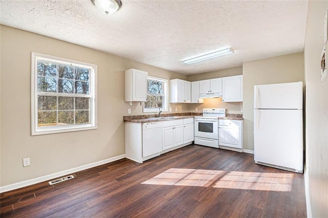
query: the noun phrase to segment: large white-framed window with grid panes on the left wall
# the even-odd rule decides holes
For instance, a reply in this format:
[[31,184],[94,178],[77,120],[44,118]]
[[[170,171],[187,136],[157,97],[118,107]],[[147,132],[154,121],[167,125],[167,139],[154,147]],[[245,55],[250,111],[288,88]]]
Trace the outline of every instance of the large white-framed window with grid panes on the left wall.
[[32,52],[32,135],[97,128],[97,66]]

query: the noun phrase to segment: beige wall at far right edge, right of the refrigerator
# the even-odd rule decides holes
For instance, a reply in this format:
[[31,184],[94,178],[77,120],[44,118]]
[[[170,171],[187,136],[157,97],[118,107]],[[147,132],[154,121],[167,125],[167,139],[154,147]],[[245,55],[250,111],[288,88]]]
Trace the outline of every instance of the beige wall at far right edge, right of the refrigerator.
[[328,216],[328,77],[322,82],[320,77],[323,19],[327,9],[328,1],[309,2],[304,46],[305,190],[310,198],[307,206],[312,211],[309,217]]

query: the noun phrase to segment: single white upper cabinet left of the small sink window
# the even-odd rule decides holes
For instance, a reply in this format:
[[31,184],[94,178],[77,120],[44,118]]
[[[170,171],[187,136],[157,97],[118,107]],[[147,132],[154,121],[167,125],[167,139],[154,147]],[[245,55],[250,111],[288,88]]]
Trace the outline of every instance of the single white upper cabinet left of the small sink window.
[[147,101],[147,78],[145,71],[125,71],[125,101]]

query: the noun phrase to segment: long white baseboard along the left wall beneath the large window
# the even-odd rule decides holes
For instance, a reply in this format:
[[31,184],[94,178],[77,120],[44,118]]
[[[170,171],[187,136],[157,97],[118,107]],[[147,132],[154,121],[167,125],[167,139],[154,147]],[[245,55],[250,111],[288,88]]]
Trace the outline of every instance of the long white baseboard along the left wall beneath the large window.
[[17,183],[10,184],[10,185],[5,185],[5,186],[0,187],[0,193],[6,192],[6,191],[11,191],[11,190],[14,190],[14,189],[17,189],[17,188],[23,188],[23,187],[26,187],[26,186],[29,186],[29,185],[34,185],[36,183],[44,182],[44,181],[47,181],[47,180],[52,180],[52,179],[55,179],[55,178],[58,178],[58,177],[66,176],[70,173],[74,173],[74,172],[78,172],[78,171],[81,171],[81,170],[89,169],[89,168],[92,168],[92,167],[95,167],[95,166],[100,166],[100,165],[107,164],[107,163],[110,163],[110,162],[113,162],[113,161],[117,161],[117,160],[120,160],[120,159],[123,159],[123,158],[125,158],[125,154],[124,155],[119,155],[119,156],[116,156],[116,157],[113,157],[113,158],[108,158],[108,159],[105,159],[105,160],[97,161],[97,162],[94,162],[94,163],[86,164],[86,165],[83,165],[83,166],[78,166],[78,167],[75,167],[75,168],[63,170],[63,171],[60,171],[60,172],[51,173],[49,175],[34,178],[34,179],[31,179],[31,180],[26,180],[26,181],[23,181],[23,182],[17,182]]

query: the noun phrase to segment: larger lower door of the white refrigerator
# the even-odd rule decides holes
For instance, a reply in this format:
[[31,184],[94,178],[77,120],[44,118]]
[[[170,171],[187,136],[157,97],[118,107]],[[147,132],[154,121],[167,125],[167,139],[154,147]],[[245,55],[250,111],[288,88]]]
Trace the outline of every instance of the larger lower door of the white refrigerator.
[[302,110],[254,110],[254,160],[303,170]]

